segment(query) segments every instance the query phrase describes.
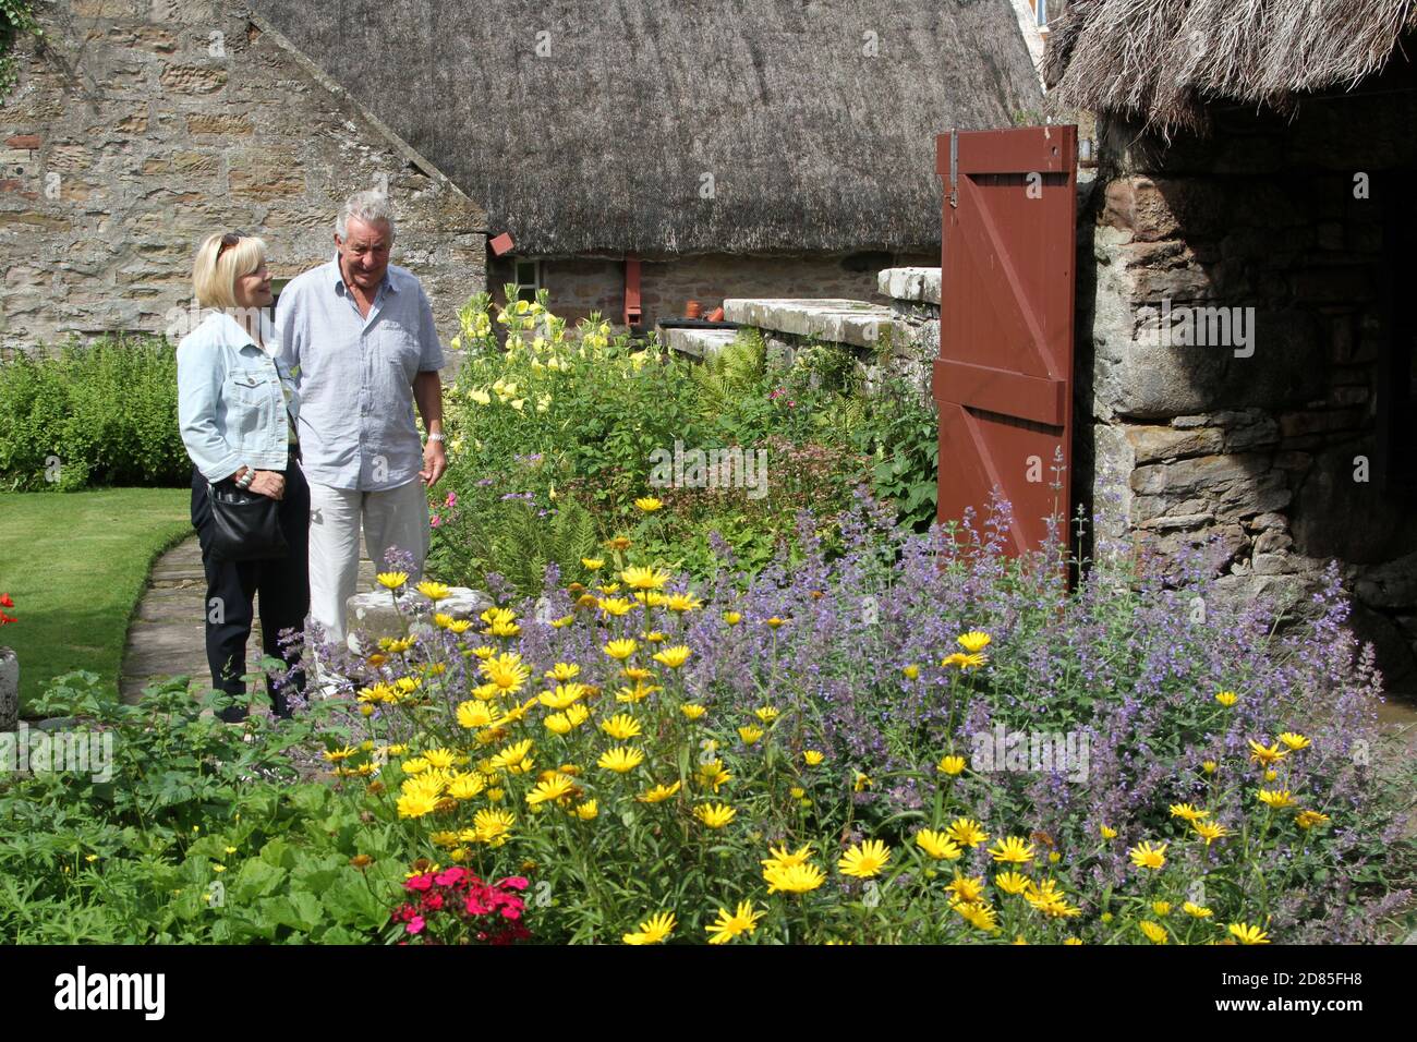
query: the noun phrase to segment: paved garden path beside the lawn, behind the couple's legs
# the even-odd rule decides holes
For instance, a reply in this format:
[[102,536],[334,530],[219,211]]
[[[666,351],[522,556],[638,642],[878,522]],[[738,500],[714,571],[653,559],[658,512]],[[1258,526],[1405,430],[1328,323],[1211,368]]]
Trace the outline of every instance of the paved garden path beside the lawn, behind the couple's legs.
[[[373,583],[374,564],[360,537],[359,588],[367,590]],[[136,702],[152,680],[179,673],[205,690],[211,678],[203,637],[205,593],[201,547],[193,534],[159,557],[147,576],[147,588],[133,612],[123,649],[119,690],[125,702]],[[256,611],[259,614],[259,595]],[[256,618],[247,641],[247,669],[254,669],[259,661],[261,620]]]

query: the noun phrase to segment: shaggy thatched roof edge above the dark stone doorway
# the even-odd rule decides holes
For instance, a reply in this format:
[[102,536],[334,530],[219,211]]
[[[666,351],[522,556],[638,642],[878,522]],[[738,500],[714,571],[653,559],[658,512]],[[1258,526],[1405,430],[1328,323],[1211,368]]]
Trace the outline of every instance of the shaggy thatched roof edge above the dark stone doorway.
[[1049,26],[1050,102],[1170,132],[1209,101],[1287,111],[1377,72],[1417,0],[1071,0]]

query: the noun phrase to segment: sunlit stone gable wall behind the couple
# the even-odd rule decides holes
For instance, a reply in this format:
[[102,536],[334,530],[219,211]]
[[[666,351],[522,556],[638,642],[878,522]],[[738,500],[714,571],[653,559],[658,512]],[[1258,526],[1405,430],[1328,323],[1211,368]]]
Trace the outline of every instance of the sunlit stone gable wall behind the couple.
[[37,10],[45,43],[23,44],[0,106],[0,347],[170,330],[213,231],[262,235],[272,274],[296,275],[333,257],[343,198],[385,177],[394,262],[439,327],[485,288],[482,210],[244,4]]

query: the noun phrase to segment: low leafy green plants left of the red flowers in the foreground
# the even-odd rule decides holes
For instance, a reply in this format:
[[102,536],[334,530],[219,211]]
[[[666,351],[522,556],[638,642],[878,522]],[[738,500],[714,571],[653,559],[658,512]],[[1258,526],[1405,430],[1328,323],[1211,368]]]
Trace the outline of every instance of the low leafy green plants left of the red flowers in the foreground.
[[0,780],[0,940],[377,939],[402,882],[397,831],[366,825],[370,797],[292,767],[312,717],[272,730],[201,715],[221,698],[197,702],[179,679],[129,706],[94,673],[55,680],[35,709],[105,739],[111,770]]

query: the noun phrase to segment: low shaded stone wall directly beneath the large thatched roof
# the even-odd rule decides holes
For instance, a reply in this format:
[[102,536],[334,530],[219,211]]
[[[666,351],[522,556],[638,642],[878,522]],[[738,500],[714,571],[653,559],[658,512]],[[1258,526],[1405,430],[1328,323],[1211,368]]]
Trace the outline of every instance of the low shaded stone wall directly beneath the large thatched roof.
[[[939,257],[915,254],[850,254],[802,257],[741,257],[704,254],[640,261],[640,309],[645,327],[660,319],[682,318],[689,301],[704,313],[734,296],[881,299],[876,272],[890,264],[938,264]],[[489,282],[500,296],[512,279],[507,261],[493,262]],[[551,310],[571,325],[592,310],[619,323],[625,309],[625,264],[621,258],[547,258],[541,281]]]

